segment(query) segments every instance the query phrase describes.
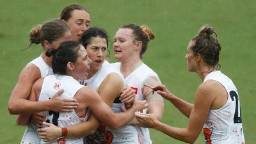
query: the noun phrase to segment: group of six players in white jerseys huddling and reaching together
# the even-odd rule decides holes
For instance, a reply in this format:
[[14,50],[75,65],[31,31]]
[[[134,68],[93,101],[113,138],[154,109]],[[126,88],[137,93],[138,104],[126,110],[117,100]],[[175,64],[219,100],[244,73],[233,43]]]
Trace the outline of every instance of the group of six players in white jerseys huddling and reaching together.
[[[148,128],[186,143],[204,131],[205,143],[245,143],[239,94],[220,72],[221,45],[213,28],[191,38],[186,60],[196,72],[194,104],[168,92],[145,63],[154,39],[147,26],[125,24],[115,33],[116,63],[108,61],[108,34],[90,27],[90,14],[70,4],[60,19],[31,29],[30,45],[42,54],[20,72],[8,109],[18,125],[28,125],[20,143],[150,144]],[[189,118],[186,128],[161,123],[164,100]]]

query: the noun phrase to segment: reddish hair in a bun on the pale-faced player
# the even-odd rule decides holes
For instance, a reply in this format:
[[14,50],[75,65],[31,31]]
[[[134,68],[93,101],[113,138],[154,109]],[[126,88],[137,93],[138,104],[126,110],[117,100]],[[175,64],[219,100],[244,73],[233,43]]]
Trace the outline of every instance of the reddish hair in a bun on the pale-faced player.
[[127,24],[121,28],[132,29],[134,42],[142,42],[142,49],[140,52],[140,58],[142,59],[142,55],[147,50],[149,40],[153,40],[155,38],[154,33],[147,26],[137,26],[136,24]]

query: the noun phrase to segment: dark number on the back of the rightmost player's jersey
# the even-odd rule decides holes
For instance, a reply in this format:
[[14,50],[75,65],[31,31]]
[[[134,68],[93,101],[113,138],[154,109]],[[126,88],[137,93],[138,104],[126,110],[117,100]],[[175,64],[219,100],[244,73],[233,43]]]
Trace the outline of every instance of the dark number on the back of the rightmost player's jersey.
[[235,110],[235,115],[234,115],[234,123],[241,123],[242,122],[242,114],[241,114],[241,108],[240,108],[240,102],[238,99],[238,95],[235,91],[230,91],[229,92],[230,97],[232,101],[236,100],[236,110]]

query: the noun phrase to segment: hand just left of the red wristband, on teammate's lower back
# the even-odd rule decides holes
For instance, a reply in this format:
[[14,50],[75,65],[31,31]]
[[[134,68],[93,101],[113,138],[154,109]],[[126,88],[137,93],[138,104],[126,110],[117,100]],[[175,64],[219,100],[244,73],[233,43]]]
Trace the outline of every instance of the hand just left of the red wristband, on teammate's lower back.
[[44,129],[37,129],[38,134],[43,141],[49,142],[61,137],[61,127],[56,127],[56,125],[47,122],[43,122],[43,124],[47,127]]

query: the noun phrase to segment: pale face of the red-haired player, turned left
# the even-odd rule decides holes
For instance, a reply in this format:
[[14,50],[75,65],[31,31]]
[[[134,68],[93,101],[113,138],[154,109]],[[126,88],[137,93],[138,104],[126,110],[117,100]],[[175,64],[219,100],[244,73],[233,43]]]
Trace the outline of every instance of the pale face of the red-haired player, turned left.
[[134,44],[132,29],[118,29],[114,40],[113,50],[115,52],[116,60],[121,62],[129,61],[131,58],[134,58],[135,54],[140,54],[139,52],[136,52],[138,49],[136,48],[136,44]]

